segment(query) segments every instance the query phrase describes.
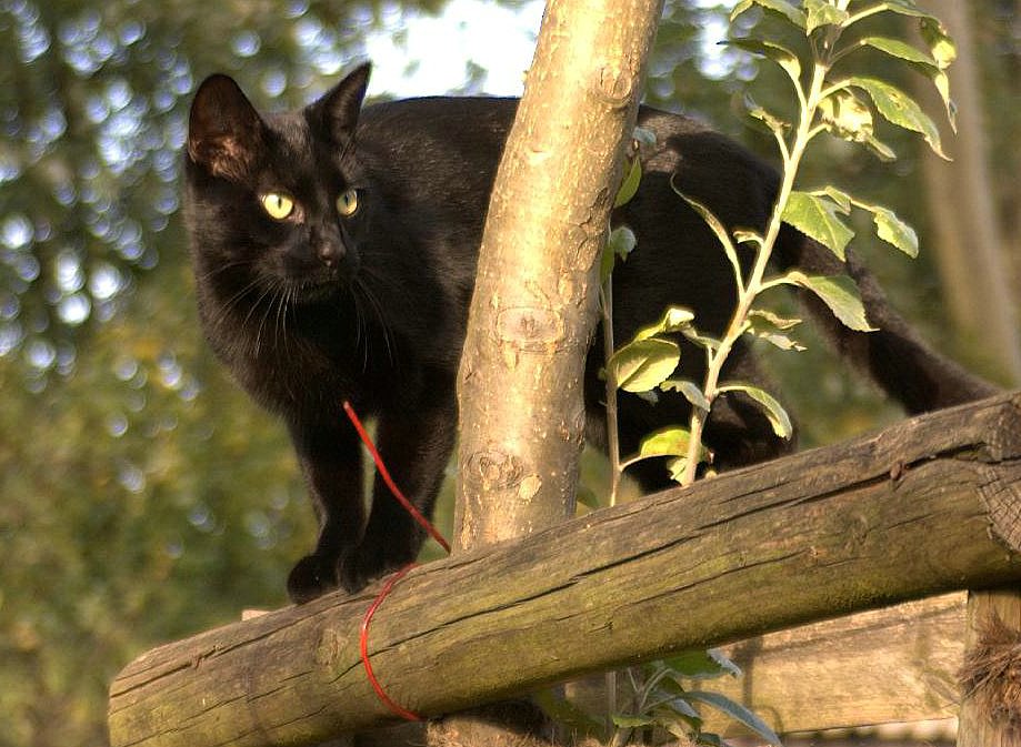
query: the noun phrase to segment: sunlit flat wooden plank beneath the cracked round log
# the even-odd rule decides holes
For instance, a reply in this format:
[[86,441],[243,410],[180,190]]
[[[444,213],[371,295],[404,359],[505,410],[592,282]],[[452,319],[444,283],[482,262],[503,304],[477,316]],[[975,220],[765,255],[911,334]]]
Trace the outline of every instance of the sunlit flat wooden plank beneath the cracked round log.
[[712,689],[784,733],[953,718],[965,599],[955,592],[727,646],[744,676]]

